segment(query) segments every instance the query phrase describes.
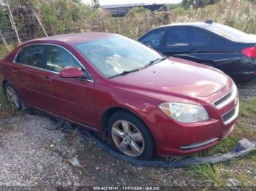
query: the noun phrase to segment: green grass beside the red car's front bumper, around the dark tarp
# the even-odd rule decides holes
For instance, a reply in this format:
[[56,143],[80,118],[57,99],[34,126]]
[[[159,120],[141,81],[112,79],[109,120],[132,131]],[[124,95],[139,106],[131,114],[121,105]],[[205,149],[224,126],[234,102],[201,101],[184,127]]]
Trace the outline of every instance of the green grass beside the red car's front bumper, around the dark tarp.
[[[199,152],[196,157],[204,157],[208,155],[214,155],[217,153],[225,153],[230,151],[233,147],[236,147],[238,141],[242,138],[256,140],[256,97],[249,99],[240,100],[240,112],[236,127],[233,133],[230,134],[226,139],[220,141],[217,146],[212,147],[208,152]],[[206,182],[212,182],[218,186],[225,185],[228,178],[238,179],[241,184],[240,186],[249,186],[250,182],[255,182],[251,174],[246,174],[245,169],[247,167],[254,169],[253,174],[256,174],[256,151],[246,155],[244,159],[233,159],[227,165],[197,165],[189,168],[189,172],[199,179]],[[240,169],[241,174],[233,173],[230,168]],[[225,170],[226,173],[222,173]]]

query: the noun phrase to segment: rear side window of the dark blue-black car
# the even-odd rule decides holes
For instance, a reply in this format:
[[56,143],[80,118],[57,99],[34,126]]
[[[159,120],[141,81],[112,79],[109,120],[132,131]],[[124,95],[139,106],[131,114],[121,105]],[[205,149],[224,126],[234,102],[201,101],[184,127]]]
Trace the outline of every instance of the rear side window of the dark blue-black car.
[[187,47],[190,35],[186,28],[173,28],[168,31],[165,47]]

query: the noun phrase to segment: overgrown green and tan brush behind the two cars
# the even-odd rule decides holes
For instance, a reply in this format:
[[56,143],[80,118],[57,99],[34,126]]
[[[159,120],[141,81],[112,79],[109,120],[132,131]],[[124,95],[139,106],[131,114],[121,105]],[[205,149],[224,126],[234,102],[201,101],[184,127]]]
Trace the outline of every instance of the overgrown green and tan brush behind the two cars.
[[[234,1],[233,4],[220,1],[214,4],[217,1],[219,0],[195,0],[194,4],[194,0],[184,0],[182,4],[170,4],[170,11],[168,12],[151,12],[143,7],[135,7],[124,17],[111,17],[108,11],[94,9],[94,7],[83,4],[82,0],[12,0],[10,1],[10,7],[20,34],[22,36],[30,35],[24,41],[44,36],[43,33],[31,35],[34,31],[26,28],[30,25],[24,20],[31,20],[31,22],[36,20],[33,12],[29,13],[31,9],[37,12],[49,35],[104,31],[137,39],[146,31],[157,26],[209,19],[238,28],[249,34],[256,34],[256,4],[249,0]],[[193,9],[185,9],[189,8],[191,4],[193,4]],[[203,8],[194,9],[196,7]],[[0,15],[2,14],[0,9]],[[1,28],[7,28],[7,24],[10,25],[8,20],[0,21]],[[24,31],[26,34],[24,34]],[[35,31],[42,31],[38,23]],[[9,43],[8,40],[7,43]]]

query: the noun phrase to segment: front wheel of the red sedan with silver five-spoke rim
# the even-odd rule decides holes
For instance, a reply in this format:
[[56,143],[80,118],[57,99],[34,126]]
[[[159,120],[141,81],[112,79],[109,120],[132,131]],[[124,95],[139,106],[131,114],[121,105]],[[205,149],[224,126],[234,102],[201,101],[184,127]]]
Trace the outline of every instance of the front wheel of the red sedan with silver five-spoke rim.
[[154,140],[146,125],[129,112],[117,112],[108,122],[110,144],[130,157],[148,160],[155,153]]

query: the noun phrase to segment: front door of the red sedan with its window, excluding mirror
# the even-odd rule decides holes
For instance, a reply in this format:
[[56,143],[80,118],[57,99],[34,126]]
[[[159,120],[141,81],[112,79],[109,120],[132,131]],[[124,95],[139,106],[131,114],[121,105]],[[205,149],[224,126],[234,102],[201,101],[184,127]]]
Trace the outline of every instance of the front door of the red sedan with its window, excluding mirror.
[[[60,77],[59,72],[68,67],[78,67],[87,79]],[[51,112],[94,127],[94,81],[78,59],[64,47],[47,45],[45,70],[50,79]]]

